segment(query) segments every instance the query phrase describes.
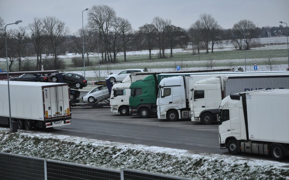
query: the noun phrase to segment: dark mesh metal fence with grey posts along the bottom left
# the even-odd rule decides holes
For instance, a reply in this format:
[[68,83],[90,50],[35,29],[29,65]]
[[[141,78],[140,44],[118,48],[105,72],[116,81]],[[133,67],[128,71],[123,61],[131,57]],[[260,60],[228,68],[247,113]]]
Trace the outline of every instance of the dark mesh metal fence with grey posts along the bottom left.
[[0,179],[15,180],[189,180],[121,168],[97,168],[0,152]]

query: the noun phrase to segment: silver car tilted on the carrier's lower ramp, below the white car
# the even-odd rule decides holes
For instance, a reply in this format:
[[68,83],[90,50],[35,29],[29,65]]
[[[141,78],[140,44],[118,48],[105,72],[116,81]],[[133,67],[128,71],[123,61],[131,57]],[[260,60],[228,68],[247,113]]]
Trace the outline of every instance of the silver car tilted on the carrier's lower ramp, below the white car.
[[107,89],[107,87],[99,86],[99,87],[93,88],[88,93],[86,93],[82,97],[82,102],[92,103],[94,101],[101,99],[102,97],[107,97],[107,96],[109,96],[109,90]]

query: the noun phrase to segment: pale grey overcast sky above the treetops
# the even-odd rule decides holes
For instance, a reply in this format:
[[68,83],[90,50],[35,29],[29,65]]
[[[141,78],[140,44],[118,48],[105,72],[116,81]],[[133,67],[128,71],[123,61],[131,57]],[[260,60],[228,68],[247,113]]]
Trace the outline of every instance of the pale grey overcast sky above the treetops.
[[[289,0],[0,0],[0,16],[5,24],[22,20],[18,24],[21,26],[32,23],[34,17],[55,16],[73,33],[82,28],[85,8],[103,4],[112,7],[117,16],[128,19],[136,30],[151,23],[155,16],[188,29],[202,13],[211,14],[225,29],[242,19],[251,20],[260,28],[279,26],[279,21],[289,23]],[[85,25],[87,12],[83,16]],[[7,29],[18,25],[9,25]]]

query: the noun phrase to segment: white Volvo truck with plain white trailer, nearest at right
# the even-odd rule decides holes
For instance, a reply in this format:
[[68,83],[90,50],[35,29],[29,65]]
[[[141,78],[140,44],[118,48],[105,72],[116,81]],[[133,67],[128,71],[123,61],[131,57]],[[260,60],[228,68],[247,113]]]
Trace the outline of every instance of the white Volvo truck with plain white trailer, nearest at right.
[[219,110],[220,148],[271,155],[289,155],[289,89],[255,90],[224,98]]

